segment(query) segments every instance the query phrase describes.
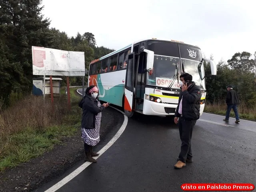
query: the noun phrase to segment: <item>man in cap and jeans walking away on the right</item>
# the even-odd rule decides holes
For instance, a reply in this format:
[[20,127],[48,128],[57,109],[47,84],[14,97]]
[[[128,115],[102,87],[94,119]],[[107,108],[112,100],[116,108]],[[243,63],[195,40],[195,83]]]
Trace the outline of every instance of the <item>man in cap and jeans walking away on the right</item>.
[[231,109],[233,109],[234,113],[236,115],[235,123],[238,123],[238,122],[240,122],[240,120],[239,120],[237,105],[240,104],[240,100],[239,100],[237,92],[235,90],[233,90],[232,85],[228,85],[227,90],[228,90],[227,97],[226,97],[227,111],[226,111],[226,118],[224,119],[224,121],[226,121],[226,122],[229,121],[230,111],[231,111]]

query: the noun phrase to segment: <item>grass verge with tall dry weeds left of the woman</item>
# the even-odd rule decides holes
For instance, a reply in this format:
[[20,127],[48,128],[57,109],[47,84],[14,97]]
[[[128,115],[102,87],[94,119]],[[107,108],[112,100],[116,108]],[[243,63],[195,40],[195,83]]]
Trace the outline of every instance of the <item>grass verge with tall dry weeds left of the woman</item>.
[[71,109],[65,91],[54,98],[28,96],[0,112],[0,171],[13,168],[51,150],[64,137],[73,136],[80,127],[80,96],[70,89]]

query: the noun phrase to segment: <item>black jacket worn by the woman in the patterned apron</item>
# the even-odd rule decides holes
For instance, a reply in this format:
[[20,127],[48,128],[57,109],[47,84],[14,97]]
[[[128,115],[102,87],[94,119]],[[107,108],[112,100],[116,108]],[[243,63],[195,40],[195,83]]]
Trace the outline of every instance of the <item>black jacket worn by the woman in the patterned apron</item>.
[[81,126],[82,128],[86,129],[95,129],[95,116],[104,110],[104,106],[98,107],[98,100],[91,97],[90,95],[85,95],[82,100],[82,121]]

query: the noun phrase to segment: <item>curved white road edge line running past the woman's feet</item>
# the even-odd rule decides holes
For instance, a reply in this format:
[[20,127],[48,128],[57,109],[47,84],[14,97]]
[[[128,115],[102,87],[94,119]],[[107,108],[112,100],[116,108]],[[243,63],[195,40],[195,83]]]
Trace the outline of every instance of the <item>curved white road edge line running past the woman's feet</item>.
[[[80,94],[80,95],[82,95],[82,94]],[[112,107],[112,106],[110,106],[110,107]],[[114,108],[114,107],[112,107],[112,108]],[[114,108],[114,109],[116,109],[116,108]],[[116,140],[122,135],[122,133],[124,132],[124,130],[127,126],[128,117],[121,110],[119,110],[119,109],[116,109],[116,110],[118,110],[119,112],[121,112],[124,115],[124,122],[123,122],[122,126],[120,127],[120,129],[118,130],[118,132],[115,134],[115,136],[110,140],[110,142],[108,142],[108,144],[106,144],[100,151],[97,152],[97,153],[99,153],[99,156],[94,157],[95,159],[99,158],[106,150],[108,150],[108,148],[110,148],[110,146],[112,146],[114,144],[114,142],[116,142]],[[68,176],[66,176],[62,180],[60,180],[58,183],[56,183],[54,186],[52,186],[45,192],[54,192],[54,191],[58,190],[59,188],[64,186],[66,183],[68,183],[70,180],[72,180],[74,177],[76,177],[78,174],[80,174],[90,164],[92,164],[92,163],[86,161],[84,164],[82,164],[80,167],[78,167],[76,170],[74,170],[72,173],[70,173]]]

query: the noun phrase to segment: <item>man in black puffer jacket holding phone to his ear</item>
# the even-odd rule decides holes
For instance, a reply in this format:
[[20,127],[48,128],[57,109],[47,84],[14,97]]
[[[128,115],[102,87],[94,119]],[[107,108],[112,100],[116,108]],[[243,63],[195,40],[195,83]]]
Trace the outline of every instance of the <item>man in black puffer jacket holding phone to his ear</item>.
[[186,162],[192,162],[191,138],[196,120],[200,117],[200,100],[202,92],[195,82],[192,75],[184,73],[180,75],[180,96],[178,106],[174,115],[174,122],[178,124],[180,132],[181,150],[178,162],[174,168],[186,166]]

